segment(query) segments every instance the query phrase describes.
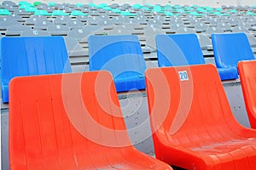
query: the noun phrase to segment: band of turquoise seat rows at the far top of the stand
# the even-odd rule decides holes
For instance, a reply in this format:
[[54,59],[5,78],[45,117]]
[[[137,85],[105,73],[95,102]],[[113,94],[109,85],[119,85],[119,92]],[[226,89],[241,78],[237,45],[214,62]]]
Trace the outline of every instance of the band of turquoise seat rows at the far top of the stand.
[[[3,15],[9,15],[11,12],[19,11],[20,15],[29,15],[29,14],[43,14],[43,15],[101,15],[101,14],[122,14],[134,16],[139,13],[145,12],[147,14],[159,13],[164,15],[181,15],[181,14],[191,14],[195,16],[203,16],[205,14],[212,15],[225,15],[229,16],[230,14],[247,14],[255,15],[253,7],[226,7],[221,8],[211,8],[211,7],[199,7],[197,5],[189,6],[180,6],[180,5],[170,5],[166,4],[165,6],[160,4],[134,4],[130,5],[125,3],[119,5],[113,3],[108,5],[106,3],[101,3],[96,5],[95,3],[82,4],[82,3],[27,3],[19,2],[13,3],[11,1],[3,1],[0,12]],[[76,12],[76,13],[75,13]],[[80,12],[80,13],[79,13]],[[90,13],[91,12],[91,13]]]

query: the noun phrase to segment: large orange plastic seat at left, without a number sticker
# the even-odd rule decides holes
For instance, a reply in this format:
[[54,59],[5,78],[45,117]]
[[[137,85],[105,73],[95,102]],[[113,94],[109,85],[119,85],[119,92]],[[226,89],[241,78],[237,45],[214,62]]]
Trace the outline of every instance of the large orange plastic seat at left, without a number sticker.
[[131,146],[107,71],[10,82],[12,170],[172,169]]

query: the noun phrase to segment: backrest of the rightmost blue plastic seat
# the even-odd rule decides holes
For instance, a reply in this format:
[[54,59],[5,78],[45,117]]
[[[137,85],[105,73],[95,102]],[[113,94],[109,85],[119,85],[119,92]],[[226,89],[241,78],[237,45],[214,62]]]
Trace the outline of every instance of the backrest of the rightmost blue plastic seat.
[[245,33],[212,34],[212,48],[218,68],[237,68],[238,61],[254,59]]

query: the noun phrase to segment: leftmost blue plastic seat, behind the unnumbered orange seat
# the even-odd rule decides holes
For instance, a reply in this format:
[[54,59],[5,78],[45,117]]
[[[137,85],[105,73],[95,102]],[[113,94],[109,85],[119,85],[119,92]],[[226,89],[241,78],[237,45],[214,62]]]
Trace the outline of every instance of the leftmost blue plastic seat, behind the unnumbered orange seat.
[[62,37],[3,37],[0,51],[3,103],[13,77],[71,72]]

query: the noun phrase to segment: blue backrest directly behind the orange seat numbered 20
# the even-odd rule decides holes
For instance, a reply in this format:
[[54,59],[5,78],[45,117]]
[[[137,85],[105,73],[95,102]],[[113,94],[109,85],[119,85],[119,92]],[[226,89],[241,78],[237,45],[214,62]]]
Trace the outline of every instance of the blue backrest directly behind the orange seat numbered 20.
[[157,35],[155,41],[160,67],[206,63],[195,34]]

